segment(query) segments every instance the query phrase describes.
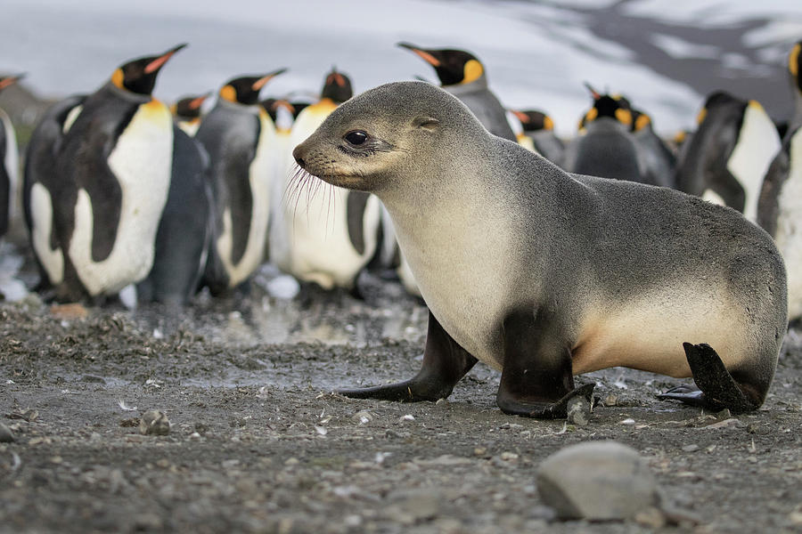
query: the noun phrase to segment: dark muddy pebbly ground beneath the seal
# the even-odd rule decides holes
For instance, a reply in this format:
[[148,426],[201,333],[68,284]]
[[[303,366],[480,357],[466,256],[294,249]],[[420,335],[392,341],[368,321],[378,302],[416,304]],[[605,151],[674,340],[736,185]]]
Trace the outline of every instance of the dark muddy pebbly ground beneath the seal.
[[[603,405],[577,427],[504,416],[482,364],[438,403],[332,394],[411,376],[425,308],[372,277],[365,302],[266,282],[183,311],[0,304],[0,532],[802,532],[796,331],[756,413],[658,401],[677,381],[610,369],[579,377]],[[167,436],[138,432],[146,409]],[[698,522],[554,522],[537,465],[604,439]]]

